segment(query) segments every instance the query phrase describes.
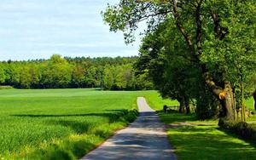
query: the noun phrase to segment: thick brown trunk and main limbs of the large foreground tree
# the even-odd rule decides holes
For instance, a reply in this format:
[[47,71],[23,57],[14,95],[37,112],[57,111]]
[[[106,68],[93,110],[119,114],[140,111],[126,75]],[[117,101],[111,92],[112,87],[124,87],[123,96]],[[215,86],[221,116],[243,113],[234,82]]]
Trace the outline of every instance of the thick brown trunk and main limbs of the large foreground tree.
[[[196,22],[196,45],[191,40],[191,37],[189,37],[189,34],[187,31],[185,31],[185,28],[183,27],[182,23],[180,22],[180,15],[178,13],[177,8],[177,1],[172,0],[172,12],[176,21],[177,28],[182,33],[190,51],[192,54],[193,59],[195,59],[198,64],[201,64],[200,55],[202,52],[201,49],[201,34],[202,34],[202,22],[201,22],[201,4],[203,1],[199,1],[196,10],[195,10],[195,22]],[[217,38],[219,40],[222,40],[225,35],[229,32],[227,28],[222,27],[220,24],[220,21],[218,19],[218,14],[211,13],[212,14],[212,20],[214,21],[214,31],[217,35]],[[224,32],[223,32],[224,31]],[[195,46],[198,50],[195,49]],[[235,103],[234,103],[234,94],[232,91],[232,88],[230,86],[230,83],[225,84],[224,89],[223,87],[218,86],[211,74],[207,71],[207,66],[205,64],[201,64],[202,73],[205,76],[205,81],[207,83],[207,86],[212,90],[212,93],[215,94],[221,102],[222,106],[222,116],[228,120],[235,120],[236,119],[236,109],[235,109]],[[224,94],[224,97],[221,98],[220,95]]]

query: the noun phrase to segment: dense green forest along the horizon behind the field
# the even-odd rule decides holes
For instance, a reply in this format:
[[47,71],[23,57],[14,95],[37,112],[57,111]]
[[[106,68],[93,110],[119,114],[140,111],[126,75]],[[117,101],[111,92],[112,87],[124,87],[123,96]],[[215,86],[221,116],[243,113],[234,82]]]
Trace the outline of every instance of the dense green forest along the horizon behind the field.
[[17,89],[101,88],[111,90],[153,89],[146,75],[135,75],[137,57],[62,58],[2,61],[0,83]]

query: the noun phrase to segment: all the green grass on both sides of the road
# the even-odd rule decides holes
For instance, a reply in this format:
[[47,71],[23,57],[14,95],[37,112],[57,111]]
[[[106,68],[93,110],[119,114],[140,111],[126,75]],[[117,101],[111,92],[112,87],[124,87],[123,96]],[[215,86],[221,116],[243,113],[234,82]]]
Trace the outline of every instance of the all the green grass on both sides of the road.
[[159,111],[167,126],[194,124],[167,129],[179,159],[212,159],[216,155],[219,159],[256,158],[256,143],[218,129],[217,119],[198,121],[195,114],[161,112],[164,105],[178,106],[178,102],[162,100],[156,91],[96,89],[0,90],[0,157],[83,157],[137,117],[138,96]]

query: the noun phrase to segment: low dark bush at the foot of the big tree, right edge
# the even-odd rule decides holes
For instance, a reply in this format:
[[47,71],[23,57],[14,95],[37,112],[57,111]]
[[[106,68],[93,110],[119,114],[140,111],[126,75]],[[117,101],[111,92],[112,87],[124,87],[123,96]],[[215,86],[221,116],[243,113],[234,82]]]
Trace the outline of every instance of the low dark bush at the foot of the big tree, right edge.
[[242,139],[256,140],[256,129],[248,123],[220,119],[218,126],[232,134],[237,134]]

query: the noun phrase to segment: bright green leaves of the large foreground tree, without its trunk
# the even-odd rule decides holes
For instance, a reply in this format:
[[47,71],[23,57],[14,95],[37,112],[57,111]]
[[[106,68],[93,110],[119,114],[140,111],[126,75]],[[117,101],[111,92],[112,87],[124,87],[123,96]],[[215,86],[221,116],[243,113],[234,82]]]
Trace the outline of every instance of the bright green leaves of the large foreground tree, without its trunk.
[[[174,3],[177,3],[177,13],[172,9]],[[144,40],[143,43],[145,45],[149,42],[154,46],[150,48],[152,51],[148,52],[148,55],[153,58],[155,57],[153,54],[161,54],[160,49],[154,50],[159,45],[154,41],[165,42],[162,44],[165,49],[172,49],[172,52],[177,53],[185,53],[184,49],[188,49],[188,47],[183,44],[185,44],[185,40],[187,43],[190,41],[192,45],[189,48],[195,49],[195,54],[192,55],[195,56],[195,60],[189,57],[191,56],[189,53],[185,56],[191,62],[197,61],[199,66],[206,65],[207,70],[212,73],[213,78],[217,78],[217,81],[227,80],[234,84],[238,80],[237,75],[240,74],[238,68],[243,67],[245,71],[252,68],[250,64],[256,46],[254,40],[255,6],[253,0],[201,2],[182,0],[172,3],[158,0],[146,2],[124,0],[120,1],[118,5],[108,6],[103,17],[111,31],[124,31],[126,43],[133,41],[132,32],[137,30],[137,24],[146,20],[148,30],[145,32],[148,37],[147,42]],[[175,14],[177,14],[176,18]],[[168,31],[162,29],[163,24],[167,22],[169,23],[169,26],[166,26]],[[201,28],[198,23],[201,23]],[[159,37],[150,36],[154,31],[161,32],[158,34]],[[170,31],[172,34],[166,34]],[[181,33],[183,33],[182,37]],[[172,38],[172,35],[180,36]],[[161,42],[159,42],[160,39]],[[196,43],[198,40],[200,42]],[[141,52],[144,54],[146,51],[141,49]],[[145,56],[143,55],[144,60],[146,60]],[[222,72],[223,77],[214,77],[218,71]]]

